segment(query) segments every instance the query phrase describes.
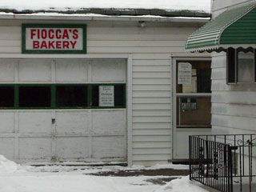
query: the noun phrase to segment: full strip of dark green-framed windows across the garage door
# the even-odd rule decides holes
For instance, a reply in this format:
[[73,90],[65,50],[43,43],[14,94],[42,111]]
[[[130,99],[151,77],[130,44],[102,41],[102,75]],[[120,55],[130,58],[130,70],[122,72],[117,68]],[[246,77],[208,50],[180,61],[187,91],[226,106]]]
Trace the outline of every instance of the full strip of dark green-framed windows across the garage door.
[[[99,94],[102,93],[102,96]],[[126,84],[0,85],[2,109],[125,108]]]

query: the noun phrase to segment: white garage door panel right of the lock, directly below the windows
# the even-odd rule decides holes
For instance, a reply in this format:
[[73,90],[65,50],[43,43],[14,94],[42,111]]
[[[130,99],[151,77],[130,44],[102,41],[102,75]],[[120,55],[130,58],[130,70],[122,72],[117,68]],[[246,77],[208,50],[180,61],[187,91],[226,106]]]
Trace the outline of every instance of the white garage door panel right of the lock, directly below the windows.
[[88,134],[88,111],[57,111],[57,134]]

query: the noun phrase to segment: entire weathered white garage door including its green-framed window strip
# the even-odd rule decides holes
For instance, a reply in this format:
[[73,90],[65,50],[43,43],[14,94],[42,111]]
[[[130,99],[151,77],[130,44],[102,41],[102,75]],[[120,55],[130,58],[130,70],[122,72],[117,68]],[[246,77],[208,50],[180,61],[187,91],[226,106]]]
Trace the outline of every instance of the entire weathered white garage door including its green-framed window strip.
[[126,161],[126,59],[2,59],[0,83],[0,154]]

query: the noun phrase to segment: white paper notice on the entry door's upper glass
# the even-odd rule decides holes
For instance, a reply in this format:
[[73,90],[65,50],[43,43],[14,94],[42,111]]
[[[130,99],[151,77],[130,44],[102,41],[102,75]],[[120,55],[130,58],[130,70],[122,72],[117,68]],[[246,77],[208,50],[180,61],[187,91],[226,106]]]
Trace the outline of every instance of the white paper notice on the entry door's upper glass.
[[189,62],[178,63],[178,84],[191,84],[192,66]]

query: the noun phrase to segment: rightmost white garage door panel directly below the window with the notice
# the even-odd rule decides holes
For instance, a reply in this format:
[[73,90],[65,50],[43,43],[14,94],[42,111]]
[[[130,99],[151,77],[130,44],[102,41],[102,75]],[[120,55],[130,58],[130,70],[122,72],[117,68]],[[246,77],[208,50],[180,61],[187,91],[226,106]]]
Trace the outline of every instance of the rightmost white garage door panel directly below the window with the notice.
[[126,110],[92,111],[94,134],[125,134]]

